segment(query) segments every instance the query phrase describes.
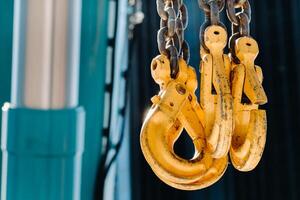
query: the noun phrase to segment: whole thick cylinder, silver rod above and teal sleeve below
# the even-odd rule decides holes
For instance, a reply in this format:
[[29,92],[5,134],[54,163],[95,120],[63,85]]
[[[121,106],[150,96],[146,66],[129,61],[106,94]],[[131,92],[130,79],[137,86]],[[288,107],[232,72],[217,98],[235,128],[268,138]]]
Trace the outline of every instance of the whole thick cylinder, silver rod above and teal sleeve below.
[[2,108],[1,200],[79,200],[81,0],[15,0],[11,101]]

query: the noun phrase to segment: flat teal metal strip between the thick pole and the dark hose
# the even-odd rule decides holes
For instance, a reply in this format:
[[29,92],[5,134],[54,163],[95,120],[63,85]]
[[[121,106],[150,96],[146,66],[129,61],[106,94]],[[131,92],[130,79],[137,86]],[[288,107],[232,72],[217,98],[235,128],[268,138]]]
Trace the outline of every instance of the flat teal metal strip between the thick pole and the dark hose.
[[82,2],[79,104],[86,110],[81,199],[92,200],[101,156],[107,46],[107,0]]

